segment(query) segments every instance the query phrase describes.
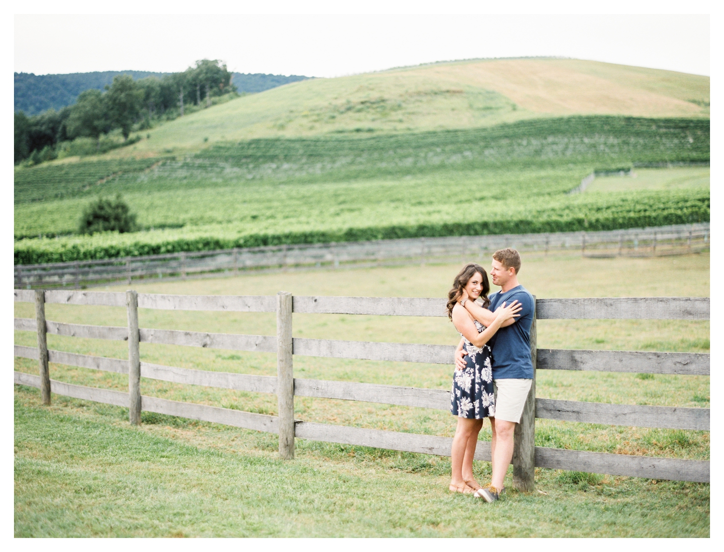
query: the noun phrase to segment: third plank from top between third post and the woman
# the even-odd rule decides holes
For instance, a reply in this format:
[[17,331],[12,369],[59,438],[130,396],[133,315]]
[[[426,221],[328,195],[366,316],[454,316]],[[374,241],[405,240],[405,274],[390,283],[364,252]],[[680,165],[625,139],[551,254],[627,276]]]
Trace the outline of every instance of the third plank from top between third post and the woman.
[[400,404],[405,407],[450,410],[450,391],[444,389],[295,378],[294,394],[316,396],[324,399],[378,402],[382,404]]

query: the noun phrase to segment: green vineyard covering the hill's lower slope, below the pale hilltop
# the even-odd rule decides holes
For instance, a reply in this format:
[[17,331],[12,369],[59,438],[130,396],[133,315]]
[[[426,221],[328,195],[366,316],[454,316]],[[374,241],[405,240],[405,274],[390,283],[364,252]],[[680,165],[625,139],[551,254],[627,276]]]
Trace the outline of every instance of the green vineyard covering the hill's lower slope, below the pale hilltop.
[[64,165],[49,165],[16,171],[16,238],[74,232],[81,198],[97,192],[122,192],[140,226],[156,230],[24,239],[15,244],[15,262],[708,221],[710,195],[701,184],[565,193],[593,170],[708,160],[708,121],[576,116],[487,129],[217,144],[98,187],[67,186],[69,199],[59,203],[20,205],[20,198],[52,197],[50,178]]

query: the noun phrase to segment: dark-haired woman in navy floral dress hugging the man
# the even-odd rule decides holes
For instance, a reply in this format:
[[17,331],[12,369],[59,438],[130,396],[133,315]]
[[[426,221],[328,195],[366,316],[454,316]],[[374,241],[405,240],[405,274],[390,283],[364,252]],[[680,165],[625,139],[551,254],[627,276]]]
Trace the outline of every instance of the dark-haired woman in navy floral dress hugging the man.
[[[485,328],[465,309],[464,302],[481,298],[483,305],[489,305],[490,284],[485,269],[476,264],[463,268],[452,289],[447,294],[447,315],[465,340],[466,368],[455,369],[450,391],[450,412],[458,416],[458,427],[452,439],[452,480],[450,491],[474,494],[481,486],[473,477],[473,456],[478,443],[478,433],[485,417],[495,415],[493,400],[492,366],[490,363],[489,339],[510,318],[518,316],[521,306],[513,302],[509,307],[503,303],[496,311],[493,322]],[[461,304],[462,303],[462,304]]]

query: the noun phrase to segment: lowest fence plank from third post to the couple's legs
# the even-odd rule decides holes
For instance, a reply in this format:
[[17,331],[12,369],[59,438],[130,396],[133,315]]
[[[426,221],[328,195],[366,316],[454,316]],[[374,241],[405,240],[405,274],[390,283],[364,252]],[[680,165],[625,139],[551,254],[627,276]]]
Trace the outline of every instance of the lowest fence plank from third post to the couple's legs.
[[[350,428],[346,425],[330,425],[314,422],[298,422],[296,435],[299,438],[345,443],[348,445],[373,446],[376,449],[393,451],[421,452],[449,457],[452,438],[419,433],[399,433],[376,429]],[[476,460],[490,462],[490,443],[478,441],[475,451]]]

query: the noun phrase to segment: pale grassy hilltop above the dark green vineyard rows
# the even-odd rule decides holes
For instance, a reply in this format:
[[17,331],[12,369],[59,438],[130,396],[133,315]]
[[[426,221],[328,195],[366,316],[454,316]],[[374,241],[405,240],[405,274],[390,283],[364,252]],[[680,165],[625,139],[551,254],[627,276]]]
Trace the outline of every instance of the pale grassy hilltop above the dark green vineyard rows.
[[219,140],[477,128],[573,114],[708,118],[709,101],[709,77],[700,75],[576,59],[457,61],[293,82],[164,124],[135,150],[114,155],[184,153]]

